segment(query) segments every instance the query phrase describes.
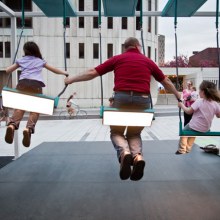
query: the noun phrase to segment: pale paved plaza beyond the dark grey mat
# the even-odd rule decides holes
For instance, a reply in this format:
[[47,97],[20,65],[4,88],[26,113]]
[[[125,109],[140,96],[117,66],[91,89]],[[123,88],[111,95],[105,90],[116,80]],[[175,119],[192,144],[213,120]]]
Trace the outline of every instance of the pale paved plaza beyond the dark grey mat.
[[[25,148],[22,145],[22,131],[25,128],[26,121],[22,121],[18,130],[19,155],[26,153],[43,142],[71,142],[71,141],[110,141],[109,126],[102,124],[102,119],[98,117],[99,109],[87,110],[88,114],[96,115],[96,119],[71,119],[57,120],[59,111],[54,114],[56,120],[38,121],[36,132],[32,135],[31,146]],[[151,127],[146,127],[142,132],[143,140],[178,140],[179,117],[176,106],[155,106],[156,119]],[[165,115],[165,116],[164,116]],[[215,118],[212,130],[220,131],[220,121]],[[4,141],[6,126],[2,123],[0,126],[0,155],[14,155],[14,144],[7,144]],[[196,144],[205,146],[207,144],[216,144],[220,146],[220,137],[198,137]]]

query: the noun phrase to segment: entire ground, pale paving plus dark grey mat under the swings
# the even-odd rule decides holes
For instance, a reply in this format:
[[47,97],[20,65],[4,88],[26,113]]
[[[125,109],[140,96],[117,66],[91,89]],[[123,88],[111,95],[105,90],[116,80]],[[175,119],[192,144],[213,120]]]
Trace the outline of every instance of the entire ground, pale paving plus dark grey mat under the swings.
[[[29,148],[21,143],[22,121],[20,157],[0,169],[0,219],[219,219],[220,160],[198,147],[219,145],[219,137],[198,137],[190,154],[176,155],[178,109],[156,106],[155,112],[142,132],[146,168],[140,181],[120,180],[98,110],[90,119],[59,120],[59,112],[41,117]],[[212,130],[219,126],[215,118]],[[0,152],[11,156],[14,144],[4,142],[5,130],[2,124]]]

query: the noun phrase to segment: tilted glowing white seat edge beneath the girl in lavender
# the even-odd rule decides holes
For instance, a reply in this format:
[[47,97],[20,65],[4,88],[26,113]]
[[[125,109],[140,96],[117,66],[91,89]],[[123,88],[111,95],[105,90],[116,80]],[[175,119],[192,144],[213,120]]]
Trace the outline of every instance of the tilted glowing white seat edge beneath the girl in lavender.
[[2,101],[8,108],[53,115],[53,99],[2,90]]

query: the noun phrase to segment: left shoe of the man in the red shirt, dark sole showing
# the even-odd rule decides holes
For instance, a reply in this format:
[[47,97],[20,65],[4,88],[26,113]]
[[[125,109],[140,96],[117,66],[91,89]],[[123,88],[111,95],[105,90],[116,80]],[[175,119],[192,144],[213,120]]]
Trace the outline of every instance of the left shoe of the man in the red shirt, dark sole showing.
[[122,180],[126,180],[131,175],[131,164],[132,164],[132,156],[129,152],[123,152],[120,158],[121,166],[120,166],[120,178]]

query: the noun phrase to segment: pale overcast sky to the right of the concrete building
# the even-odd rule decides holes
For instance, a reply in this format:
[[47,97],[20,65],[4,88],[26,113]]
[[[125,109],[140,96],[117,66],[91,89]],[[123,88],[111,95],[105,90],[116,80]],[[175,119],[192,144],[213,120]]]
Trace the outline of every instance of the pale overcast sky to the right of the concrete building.
[[[158,0],[162,11],[168,0]],[[198,11],[216,11],[216,0],[208,0]],[[175,56],[174,18],[158,17],[158,34],[165,35],[165,62]],[[177,19],[178,56],[188,58],[193,51],[202,51],[207,47],[217,47],[215,17],[179,17]]]

